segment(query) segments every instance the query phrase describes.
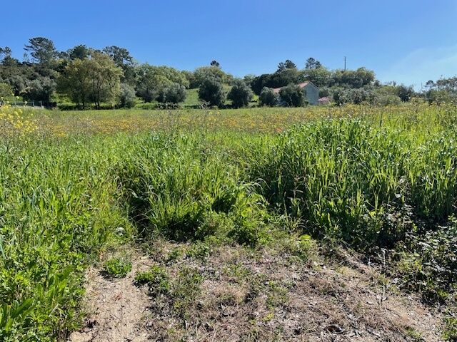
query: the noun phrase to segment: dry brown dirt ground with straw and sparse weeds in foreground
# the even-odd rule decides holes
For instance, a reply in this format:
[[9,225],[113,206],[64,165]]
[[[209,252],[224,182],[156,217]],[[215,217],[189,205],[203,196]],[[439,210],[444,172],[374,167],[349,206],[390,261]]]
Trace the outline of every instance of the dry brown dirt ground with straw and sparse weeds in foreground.
[[[348,254],[159,241],[131,260],[124,279],[88,271],[88,316],[69,341],[441,341],[439,314]],[[167,291],[135,286],[152,265]]]

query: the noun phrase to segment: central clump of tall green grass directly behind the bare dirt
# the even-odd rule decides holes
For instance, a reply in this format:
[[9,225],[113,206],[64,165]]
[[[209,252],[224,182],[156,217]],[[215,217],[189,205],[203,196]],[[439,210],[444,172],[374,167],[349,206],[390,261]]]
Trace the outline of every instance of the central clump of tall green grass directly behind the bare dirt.
[[243,244],[261,242],[263,199],[250,193],[224,155],[207,151],[195,136],[151,136],[137,144],[145,148],[126,158],[119,174],[131,217],[146,237],[160,232],[185,241],[233,230]]

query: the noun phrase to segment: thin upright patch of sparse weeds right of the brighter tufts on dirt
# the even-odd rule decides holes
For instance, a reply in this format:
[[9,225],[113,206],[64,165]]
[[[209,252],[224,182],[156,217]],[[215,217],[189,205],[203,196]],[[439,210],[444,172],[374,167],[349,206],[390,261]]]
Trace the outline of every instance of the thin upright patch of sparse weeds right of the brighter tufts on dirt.
[[185,267],[181,269],[171,293],[174,309],[182,317],[187,318],[190,307],[200,294],[200,285],[204,277],[196,270]]

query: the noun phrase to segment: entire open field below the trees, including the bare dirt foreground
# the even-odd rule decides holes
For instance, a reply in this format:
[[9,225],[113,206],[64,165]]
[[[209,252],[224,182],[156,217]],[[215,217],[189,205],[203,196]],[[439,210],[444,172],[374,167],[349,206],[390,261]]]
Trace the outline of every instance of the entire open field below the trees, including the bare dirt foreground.
[[14,110],[1,341],[456,341],[455,106]]

